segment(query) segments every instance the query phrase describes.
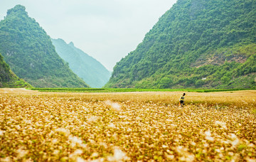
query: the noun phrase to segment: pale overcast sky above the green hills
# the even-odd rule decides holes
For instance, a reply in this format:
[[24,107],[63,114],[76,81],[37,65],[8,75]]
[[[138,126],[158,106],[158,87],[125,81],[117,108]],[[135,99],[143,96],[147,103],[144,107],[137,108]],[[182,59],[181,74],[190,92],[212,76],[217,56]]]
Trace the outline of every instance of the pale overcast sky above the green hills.
[[26,7],[51,38],[73,41],[108,70],[137,48],[176,0],[0,0],[0,19]]

